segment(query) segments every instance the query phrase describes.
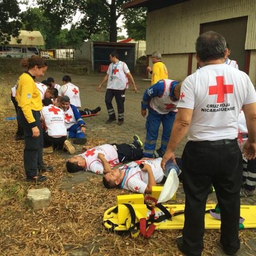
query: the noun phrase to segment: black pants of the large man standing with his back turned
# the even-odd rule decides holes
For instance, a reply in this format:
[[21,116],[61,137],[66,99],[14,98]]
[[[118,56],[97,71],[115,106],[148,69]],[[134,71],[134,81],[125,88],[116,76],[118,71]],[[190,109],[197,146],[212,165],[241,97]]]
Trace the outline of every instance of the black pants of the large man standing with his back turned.
[[[234,143],[233,143],[234,142]],[[203,250],[206,199],[213,184],[221,211],[221,244],[238,250],[243,161],[236,140],[226,145],[188,142],[182,154],[182,180],[186,194],[183,242],[191,255]]]

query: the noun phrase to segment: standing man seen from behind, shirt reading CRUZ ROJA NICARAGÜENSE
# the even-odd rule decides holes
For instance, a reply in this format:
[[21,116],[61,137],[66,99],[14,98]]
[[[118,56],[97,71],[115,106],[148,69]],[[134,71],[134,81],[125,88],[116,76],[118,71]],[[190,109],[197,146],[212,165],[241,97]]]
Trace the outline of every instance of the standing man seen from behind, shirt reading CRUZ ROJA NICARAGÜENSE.
[[174,158],[174,150],[188,132],[182,155],[182,181],[186,195],[185,223],[179,249],[186,255],[203,251],[206,199],[213,184],[221,211],[223,250],[234,255],[238,237],[243,159],[237,144],[237,119],[244,110],[249,139],[243,153],[256,157],[256,93],[249,76],[225,64],[225,38],[208,31],[197,38],[196,59],[201,69],[181,86],[178,114],[161,163]]

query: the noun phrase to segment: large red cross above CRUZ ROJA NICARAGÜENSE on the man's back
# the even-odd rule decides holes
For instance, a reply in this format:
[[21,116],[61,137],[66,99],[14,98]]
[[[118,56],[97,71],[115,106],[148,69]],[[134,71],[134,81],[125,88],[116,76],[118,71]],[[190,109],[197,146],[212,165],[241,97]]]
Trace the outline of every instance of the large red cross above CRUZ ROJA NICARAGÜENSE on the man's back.
[[222,103],[225,101],[225,94],[233,93],[233,84],[224,84],[224,77],[216,77],[217,85],[209,86],[209,95],[217,94],[217,103]]

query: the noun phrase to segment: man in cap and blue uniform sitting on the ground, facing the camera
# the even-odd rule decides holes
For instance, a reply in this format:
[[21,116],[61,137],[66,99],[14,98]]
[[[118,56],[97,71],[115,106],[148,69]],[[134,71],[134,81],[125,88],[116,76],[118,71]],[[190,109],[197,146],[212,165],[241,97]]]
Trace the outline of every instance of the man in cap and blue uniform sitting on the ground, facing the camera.
[[68,138],[74,139],[74,144],[86,143],[85,138],[85,123],[79,114],[77,108],[70,104],[68,96],[63,96],[60,100],[60,108],[64,111],[65,115],[65,126],[67,128]]

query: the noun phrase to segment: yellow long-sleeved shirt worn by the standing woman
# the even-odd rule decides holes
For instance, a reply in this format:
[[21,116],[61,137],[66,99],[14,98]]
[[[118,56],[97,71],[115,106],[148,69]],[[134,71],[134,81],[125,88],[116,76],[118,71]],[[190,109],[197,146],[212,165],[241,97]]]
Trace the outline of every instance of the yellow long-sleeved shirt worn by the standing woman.
[[42,110],[43,104],[35,81],[28,73],[23,73],[18,79],[15,100],[22,109],[28,123],[34,123],[35,118],[32,110]]

